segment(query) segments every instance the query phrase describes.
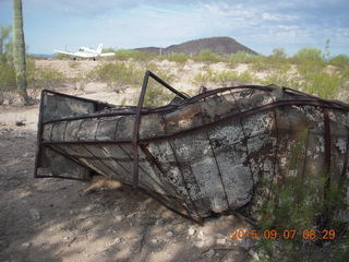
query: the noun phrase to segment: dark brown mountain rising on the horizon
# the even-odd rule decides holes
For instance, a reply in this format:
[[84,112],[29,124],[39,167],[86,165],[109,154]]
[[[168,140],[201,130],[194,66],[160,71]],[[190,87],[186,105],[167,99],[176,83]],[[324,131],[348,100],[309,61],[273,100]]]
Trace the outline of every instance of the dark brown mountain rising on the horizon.
[[257,55],[257,52],[245,47],[233,38],[230,37],[209,37],[196,40],[185,41],[180,45],[171,45],[166,48],[159,47],[143,47],[136,48],[135,50],[145,51],[151,53],[171,53],[171,52],[184,52],[188,55],[196,55],[201,50],[208,49],[216,53],[229,55],[238,51],[245,51],[249,53]]

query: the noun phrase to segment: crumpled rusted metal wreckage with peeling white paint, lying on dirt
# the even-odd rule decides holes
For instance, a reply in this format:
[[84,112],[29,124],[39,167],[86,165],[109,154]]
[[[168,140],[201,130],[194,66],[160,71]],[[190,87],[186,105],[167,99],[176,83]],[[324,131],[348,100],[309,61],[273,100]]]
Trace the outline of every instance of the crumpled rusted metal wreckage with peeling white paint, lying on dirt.
[[[179,102],[144,108],[149,78]],[[43,91],[35,177],[101,174],[202,221],[241,207],[253,215],[286,177],[327,176],[324,188],[340,184],[348,210],[348,112],[347,104],[276,86],[189,97],[149,71],[136,107]]]

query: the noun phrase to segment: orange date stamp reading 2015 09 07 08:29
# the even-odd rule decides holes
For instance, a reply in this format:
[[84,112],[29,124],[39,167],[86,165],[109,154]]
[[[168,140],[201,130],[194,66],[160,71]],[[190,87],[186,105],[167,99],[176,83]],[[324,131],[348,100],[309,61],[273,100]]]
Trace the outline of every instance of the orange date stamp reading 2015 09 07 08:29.
[[324,239],[333,240],[336,238],[336,231],[334,229],[303,229],[298,231],[296,229],[232,229],[230,231],[229,239],[231,240],[241,240],[241,239],[294,239],[296,237],[301,237],[302,239]]

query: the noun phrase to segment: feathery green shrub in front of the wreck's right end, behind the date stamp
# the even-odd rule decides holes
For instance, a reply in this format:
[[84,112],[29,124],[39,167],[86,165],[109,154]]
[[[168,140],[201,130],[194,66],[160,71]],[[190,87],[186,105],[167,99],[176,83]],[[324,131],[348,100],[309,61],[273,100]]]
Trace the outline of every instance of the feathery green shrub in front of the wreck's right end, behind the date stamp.
[[[291,170],[299,167],[309,135],[309,131],[303,131],[294,136],[296,141],[290,146]],[[333,250],[338,258],[348,258],[348,240],[341,245],[336,242],[345,226],[345,222],[336,218],[336,214],[346,209],[346,194],[342,190],[346,186],[333,183],[327,188],[328,176],[328,171],[324,169],[316,176],[298,174],[284,177],[281,183],[262,179],[261,183],[268,190],[265,190],[267,195],[263,198],[262,217],[256,227],[261,235],[264,230],[276,230],[279,237],[261,239],[257,247],[266,251],[273,261],[324,261],[324,255],[328,258],[328,252],[323,252],[323,249],[329,246],[338,248]],[[313,237],[312,234],[320,236],[324,228],[336,230],[335,240]],[[294,238],[280,237],[284,230],[294,230]]]

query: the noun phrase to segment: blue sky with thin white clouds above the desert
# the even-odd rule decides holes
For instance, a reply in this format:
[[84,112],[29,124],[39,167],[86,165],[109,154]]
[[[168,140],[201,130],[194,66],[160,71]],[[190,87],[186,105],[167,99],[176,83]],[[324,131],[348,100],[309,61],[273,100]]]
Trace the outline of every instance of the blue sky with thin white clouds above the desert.
[[[31,53],[80,46],[166,47],[230,36],[269,55],[304,46],[349,55],[349,0],[22,0]],[[12,23],[12,1],[0,0],[0,24]]]

